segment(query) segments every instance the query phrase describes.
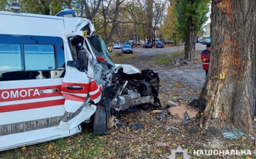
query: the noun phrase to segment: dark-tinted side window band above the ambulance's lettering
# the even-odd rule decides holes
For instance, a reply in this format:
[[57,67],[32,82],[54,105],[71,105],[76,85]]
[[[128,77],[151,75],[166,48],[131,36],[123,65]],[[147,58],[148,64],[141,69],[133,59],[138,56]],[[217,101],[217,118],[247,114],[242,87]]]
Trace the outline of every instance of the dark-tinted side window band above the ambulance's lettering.
[[63,78],[63,44],[61,37],[0,34],[0,82]]

